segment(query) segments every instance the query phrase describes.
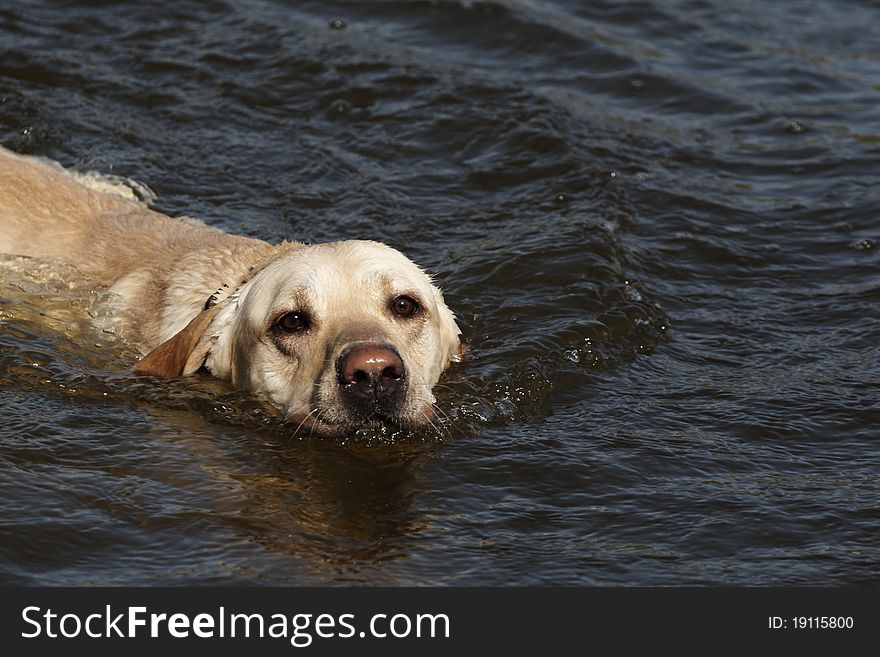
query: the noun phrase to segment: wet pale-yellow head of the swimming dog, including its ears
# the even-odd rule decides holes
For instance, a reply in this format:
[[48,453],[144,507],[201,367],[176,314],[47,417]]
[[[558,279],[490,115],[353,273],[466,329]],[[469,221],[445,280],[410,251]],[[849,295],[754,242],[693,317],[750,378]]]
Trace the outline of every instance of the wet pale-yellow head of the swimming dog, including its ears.
[[[172,347],[171,372],[149,367]],[[432,387],[459,351],[455,318],[421,269],[383,244],[345,241],[282,251],[137,369],[204,365],[310,433],[345,435],[430,422]]]

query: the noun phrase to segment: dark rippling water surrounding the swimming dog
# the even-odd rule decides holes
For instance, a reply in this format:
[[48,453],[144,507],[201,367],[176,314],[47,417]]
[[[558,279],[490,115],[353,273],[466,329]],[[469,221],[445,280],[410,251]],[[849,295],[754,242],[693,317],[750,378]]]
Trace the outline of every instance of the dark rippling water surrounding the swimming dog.
[[0,581],[880,584],[876,3],[3,2],[0,142],[471,343],[441,436],[292,438],[3,274]]

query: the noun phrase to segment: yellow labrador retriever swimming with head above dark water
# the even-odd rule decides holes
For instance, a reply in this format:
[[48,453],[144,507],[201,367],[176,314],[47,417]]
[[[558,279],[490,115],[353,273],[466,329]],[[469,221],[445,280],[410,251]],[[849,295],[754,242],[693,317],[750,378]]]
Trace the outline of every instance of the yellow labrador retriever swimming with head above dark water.
[[146,356],[134,369],[204,368],[325,435],[434,417],[458,359],[440,290],[391,247],[271,245],[103,193],[59,165],[0,147],[0,253],[62,258],[115,293]]

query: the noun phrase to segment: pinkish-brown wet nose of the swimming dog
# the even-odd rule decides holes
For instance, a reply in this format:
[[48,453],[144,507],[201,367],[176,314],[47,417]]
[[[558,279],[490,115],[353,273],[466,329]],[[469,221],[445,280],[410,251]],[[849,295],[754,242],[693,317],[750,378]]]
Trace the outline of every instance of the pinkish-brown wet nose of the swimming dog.
[[363,400],[385,400],[402,388],[403,360],[391,345],[355,344],[337,361],[339,384]]

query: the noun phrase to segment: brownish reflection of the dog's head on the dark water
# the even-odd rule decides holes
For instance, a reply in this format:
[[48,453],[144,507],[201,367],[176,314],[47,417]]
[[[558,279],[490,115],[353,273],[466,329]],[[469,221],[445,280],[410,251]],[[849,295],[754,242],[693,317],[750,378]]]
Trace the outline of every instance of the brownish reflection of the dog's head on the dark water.
[[[205,433],[191,414],[165,419],[181,424],[184,434]],[[419,471],[436,444],[341,446],[251,435],[220,451],[204,440],[187,442],[190,457],[215,484],[237,491],[212,505],[211,515],[267,550],[314,561],[328,573],[405,556],[407,537],[426,522],[411,507]]]

